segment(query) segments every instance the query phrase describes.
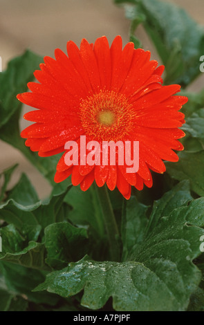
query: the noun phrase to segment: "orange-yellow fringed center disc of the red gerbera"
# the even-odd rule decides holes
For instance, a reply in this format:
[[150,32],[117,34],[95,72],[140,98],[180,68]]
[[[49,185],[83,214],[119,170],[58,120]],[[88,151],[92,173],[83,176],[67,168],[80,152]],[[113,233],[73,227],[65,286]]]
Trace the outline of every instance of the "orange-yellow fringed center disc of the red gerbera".
[[124,140],[131,132],[135,115],[127,98],[114,91],[101,90],[80,104],[82,127],[95,140]]

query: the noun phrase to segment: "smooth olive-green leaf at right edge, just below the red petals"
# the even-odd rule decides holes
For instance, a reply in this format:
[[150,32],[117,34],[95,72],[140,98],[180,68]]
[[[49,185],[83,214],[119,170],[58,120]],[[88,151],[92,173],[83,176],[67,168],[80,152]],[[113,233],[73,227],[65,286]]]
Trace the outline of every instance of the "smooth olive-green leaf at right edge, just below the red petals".
[[191,188],[204,196],[204,150],[180,152],[178,163],[166,163],[167,172],[176,180],[189,180]]

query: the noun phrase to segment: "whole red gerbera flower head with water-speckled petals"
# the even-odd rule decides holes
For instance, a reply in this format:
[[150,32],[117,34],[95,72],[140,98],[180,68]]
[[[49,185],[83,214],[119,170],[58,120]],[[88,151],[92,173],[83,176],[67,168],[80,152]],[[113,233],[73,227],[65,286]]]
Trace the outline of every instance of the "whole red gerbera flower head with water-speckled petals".
[[[127,173],[127,165],[66,165],[64,157],[57,164],[55,182],[71,176],[73,185],[86,191],[93,181],[99,187],[118,187],[125,198],[131,186],[141,190],[152,186],[150,169],[165,171],[163,160],[178,161],[173,150],[182,150],[178,141],[185,133],[184,114],[178,112],[187,97],[175,94],[177,84],[162,86],[164,66],[150,60],[151,53],[134,49],[129,42],[122,49],[122,39],[115,37],[111,47],[106,37],[95,44],[82,39],[80,49],[67,44],[68,56],[55,50],[55,59],[44,57],[34,75],[39,83],[29,82],[31,93],[17,98],[37,110],[24,115],[35,122],[21,132],[26,145],[39,156],[65,151],[69,140],[139,141],[139,169]],[[79,151],[80,157],[80,151]]]

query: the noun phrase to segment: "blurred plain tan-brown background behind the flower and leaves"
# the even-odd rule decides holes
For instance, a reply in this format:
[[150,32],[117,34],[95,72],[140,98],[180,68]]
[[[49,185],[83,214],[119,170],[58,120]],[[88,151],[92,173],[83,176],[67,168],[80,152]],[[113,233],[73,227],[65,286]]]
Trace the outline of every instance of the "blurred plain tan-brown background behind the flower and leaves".
[[[198,23],[204,24],[203,0],[164,1],[185,8]],[[20,55],[26,48],[40,55],[53,56],[55,48],[66,50],[69,39],[80,45],[83,37],[94,42],[97,37],[106,35],[111,43],[115,35],[121,35],[126,44],[128,34],[129,21],[124,17],[124,10],[115,6],[112,0],[0,0],[0,56],[3,69],[12,57]],[[158,59],[142,27],[138,28],[137,36],[145,49],[151,50],[152,58]],[[199,91],[203,86],[204,74],[190,86],[190,90]],[[25,111],[28,108],[24,107]],[[28,122],[22,119],[21,128],[27,125]],[[19,151],[0,140],[0,153],[0,172],[19,163],[10,186],[24,171],[40,198],[50,192],[50,185]]]

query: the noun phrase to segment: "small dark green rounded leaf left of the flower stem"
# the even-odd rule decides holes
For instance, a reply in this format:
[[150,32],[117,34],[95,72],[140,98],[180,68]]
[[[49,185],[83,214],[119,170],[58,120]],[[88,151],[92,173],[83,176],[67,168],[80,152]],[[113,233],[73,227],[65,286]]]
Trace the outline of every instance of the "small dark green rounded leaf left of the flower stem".
[[46,263],[53,268],[64,268],[70,261],[84,256],[87,232],[70,223],[53,223],[45,229]]

